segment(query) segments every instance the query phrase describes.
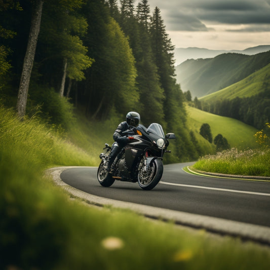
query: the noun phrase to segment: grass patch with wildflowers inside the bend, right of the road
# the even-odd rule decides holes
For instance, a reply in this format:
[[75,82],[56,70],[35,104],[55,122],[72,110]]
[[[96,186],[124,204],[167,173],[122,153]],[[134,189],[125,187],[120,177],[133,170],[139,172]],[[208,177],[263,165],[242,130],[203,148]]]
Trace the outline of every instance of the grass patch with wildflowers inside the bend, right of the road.
[[224,174],[270,177],[270,149],[232,148],[201,158],[195,169]]

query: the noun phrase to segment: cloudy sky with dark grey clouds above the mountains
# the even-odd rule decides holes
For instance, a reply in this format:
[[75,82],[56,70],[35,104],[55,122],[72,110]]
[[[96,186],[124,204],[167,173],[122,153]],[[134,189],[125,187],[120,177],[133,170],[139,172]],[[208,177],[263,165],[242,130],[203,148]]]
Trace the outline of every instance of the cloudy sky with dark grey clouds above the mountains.
[[[135,3],[138,3],[138,0]],[[176,48],[244,50],[270,45],[270,0],[148,0]]]

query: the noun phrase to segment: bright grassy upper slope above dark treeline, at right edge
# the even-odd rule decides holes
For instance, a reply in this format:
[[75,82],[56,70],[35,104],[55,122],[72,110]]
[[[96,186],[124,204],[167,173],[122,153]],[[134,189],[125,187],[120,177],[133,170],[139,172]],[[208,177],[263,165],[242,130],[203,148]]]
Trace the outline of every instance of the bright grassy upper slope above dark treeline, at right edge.
[[263,91],[266,85],[270,83],[270,64],[252,73],[242,81],[230,85],[210,95],[200,98],[202,101],[211,101],[219,99],[234,99],[236,97],[251,97]]

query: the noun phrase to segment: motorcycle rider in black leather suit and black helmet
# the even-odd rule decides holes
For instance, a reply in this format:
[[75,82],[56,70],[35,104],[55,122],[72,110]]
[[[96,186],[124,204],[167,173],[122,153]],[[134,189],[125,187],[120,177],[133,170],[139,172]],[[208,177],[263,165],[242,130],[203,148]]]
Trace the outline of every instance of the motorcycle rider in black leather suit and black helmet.
[[122,122],[118,125],[118,128],[113,133],[113,140],[115,141],[111,146],[111,151],[108,156],[107,164],[105,170],[110,172],[111,164],[113,163],[115,157],[121,151],[123,146],[125,146],[130,140],[129,137],[123,135],[122,133],[132,127],[137,127],[140,122],[140,114],[135,111],[130,111],[127,113],[126,122]]

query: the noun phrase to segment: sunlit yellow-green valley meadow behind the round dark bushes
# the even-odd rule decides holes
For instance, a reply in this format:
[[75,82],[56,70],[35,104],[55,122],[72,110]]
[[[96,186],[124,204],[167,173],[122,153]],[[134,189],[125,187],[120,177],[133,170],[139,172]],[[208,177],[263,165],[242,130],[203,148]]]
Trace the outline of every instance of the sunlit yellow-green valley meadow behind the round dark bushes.
[[213,138],[221,134],[228,140],[231,147],[247,148],[256,147],[254,134],[257,129],[248,126],[238,120],[221,117],[216,114],[205,112],[194,107],[187,106],[188,127],[196,133],[200,143],[208,143],[200,134],[202,124],[207,123],[211,127]]

